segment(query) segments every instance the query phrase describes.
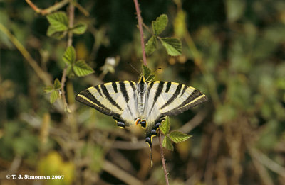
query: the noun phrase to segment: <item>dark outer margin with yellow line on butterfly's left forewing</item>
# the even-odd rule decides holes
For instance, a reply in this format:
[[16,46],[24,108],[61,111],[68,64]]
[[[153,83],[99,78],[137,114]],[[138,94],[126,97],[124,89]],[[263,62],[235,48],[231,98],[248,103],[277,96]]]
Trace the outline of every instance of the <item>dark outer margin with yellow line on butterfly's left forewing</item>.
[[[94,87],[96,87],[96,86],[94,86]],[[98,91],[98,93],[99,93],[99,91]],[[118,118],[120,117],[120,114],[115,113],[115,112],[111,111],[109,108],[105,107],[88,90],[81,91],[81,93],[76,96],[76,101],[79,101],[81,103],[86,104],[87,106],[95,108],[96,110],[100,111],[101,113],[105,113],[108,116],[115,116]]]

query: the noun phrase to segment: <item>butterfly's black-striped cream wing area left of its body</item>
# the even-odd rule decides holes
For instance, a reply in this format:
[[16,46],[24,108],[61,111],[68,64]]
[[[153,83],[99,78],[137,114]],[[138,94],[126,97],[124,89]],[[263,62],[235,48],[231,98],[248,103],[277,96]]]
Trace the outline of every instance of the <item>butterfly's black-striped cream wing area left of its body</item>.
[[110,82],[81,91],[76,100],[93,107],[126,125],[133,124],[135,113],[136,83],[133,81]]

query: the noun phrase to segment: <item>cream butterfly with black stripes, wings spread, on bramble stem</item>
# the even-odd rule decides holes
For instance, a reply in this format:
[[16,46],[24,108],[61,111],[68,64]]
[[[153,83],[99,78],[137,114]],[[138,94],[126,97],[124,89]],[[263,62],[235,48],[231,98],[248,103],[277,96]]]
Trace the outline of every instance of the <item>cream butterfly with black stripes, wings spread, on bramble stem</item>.
[[[120,128],[138,125],[145,128],[145,142],[152,149],[152,138],[165,116],[175,116],[207,101],[201,91],[175,82],[120,81],[91,86],[76,100],[113,116]],[[152,157],[151,157],[152,158]]]

